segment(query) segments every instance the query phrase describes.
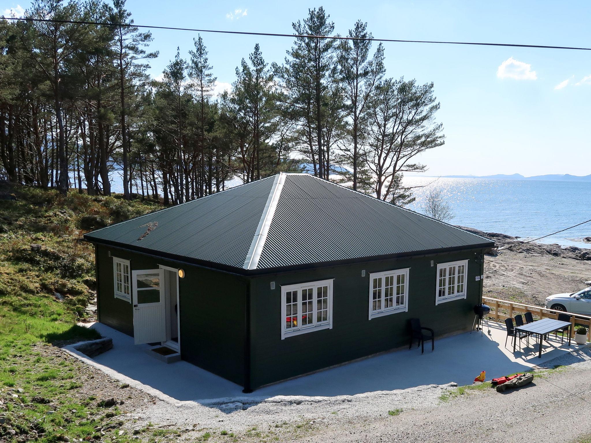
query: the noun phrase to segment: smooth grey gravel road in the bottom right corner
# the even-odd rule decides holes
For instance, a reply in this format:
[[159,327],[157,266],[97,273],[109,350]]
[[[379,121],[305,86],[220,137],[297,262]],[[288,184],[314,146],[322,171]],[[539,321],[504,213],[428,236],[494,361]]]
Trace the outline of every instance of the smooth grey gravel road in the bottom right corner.
[[569,442],[591,433],[591,350],[547,363],[570,365],[505,394],[470,392],[435,408],[360,425],[330,426],[309,442]]

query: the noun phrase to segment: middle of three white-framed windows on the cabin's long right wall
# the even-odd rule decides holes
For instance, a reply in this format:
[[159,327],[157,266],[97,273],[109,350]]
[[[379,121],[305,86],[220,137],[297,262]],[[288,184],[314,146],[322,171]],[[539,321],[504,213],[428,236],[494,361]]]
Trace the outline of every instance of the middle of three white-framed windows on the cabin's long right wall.
[[408,311],[408,271],[410,268],[369,274],[369,320]]

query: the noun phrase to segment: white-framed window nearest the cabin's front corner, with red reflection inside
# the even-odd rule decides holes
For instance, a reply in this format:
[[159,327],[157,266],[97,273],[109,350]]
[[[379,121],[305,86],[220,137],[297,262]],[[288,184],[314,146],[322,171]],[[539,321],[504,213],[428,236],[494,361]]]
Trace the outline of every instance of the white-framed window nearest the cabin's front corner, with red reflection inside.
[[281,286],[281,340],[332,329],[333,279]]

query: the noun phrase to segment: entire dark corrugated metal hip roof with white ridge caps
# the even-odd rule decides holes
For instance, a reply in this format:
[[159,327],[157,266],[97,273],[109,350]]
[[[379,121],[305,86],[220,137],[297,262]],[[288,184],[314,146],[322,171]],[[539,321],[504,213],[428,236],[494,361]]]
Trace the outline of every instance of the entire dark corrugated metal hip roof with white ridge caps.
[[310,174],[264,178],[85,237],[251,270],[493,245]]

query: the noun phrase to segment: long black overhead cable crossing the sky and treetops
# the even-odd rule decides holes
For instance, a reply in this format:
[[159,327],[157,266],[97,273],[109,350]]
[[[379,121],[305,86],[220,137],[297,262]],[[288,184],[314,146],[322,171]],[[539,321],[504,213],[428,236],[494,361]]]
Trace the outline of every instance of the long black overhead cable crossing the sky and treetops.
[[394,38],[366,38],[366,37],[342,37],[341,35],[306,35],[306,34],[277,34],[274,32],[245,32],[245,31],[220,31],[207,29],[193,29],[193,28],[174,28],[169,26],[152,26],[152,25],[131,25],[118,24],[109,22],[93,22],[93,21],[78,21],[78,20],[56,20],[48,18],[18,18],[18,17],[2,17],[6,20],[23,20],[23,21],[38,21],[51,23],[69,23],[79,25],[100,25],[100,26],[116,26],[116,27],[136,27],[136,28],[151,28],[163,29],[173,31],[191,31],[191,32],[213,32],[216,34],[239,34],[239,35],[261,35],[267,37],[302,37],[302,38],[323,38],[327,40],[363,40],[363,41],[384,41],[392,43],[433,43],[433,44],[449,44],[449,45],[476,45],[476,46],[504,46],[514,48],[541,48],[541,49],[571,49],[576,51],[591,51],[591,48],[580,48],[573,46],[551,46],[551,45],[525,45],[512,43],[482,43],[474,41],[436,41],[436,40],[397,40]]

